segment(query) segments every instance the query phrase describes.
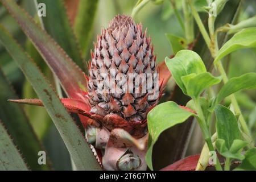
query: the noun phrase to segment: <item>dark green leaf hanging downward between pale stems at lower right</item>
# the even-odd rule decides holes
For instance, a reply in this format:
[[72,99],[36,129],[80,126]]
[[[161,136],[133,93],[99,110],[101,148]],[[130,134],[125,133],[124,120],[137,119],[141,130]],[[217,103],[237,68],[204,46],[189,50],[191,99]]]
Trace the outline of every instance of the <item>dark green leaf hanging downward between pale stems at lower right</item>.
[[237,119],[232,111],[222,105],[216,106],[215,114],[218,138],[224,139],[225,145],[229,149],[235,139],[241,139]]

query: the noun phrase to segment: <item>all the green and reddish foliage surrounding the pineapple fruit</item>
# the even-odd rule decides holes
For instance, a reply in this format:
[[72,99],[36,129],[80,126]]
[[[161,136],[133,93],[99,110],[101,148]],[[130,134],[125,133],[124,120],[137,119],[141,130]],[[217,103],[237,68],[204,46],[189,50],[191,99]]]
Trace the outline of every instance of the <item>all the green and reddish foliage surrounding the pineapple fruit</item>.
[[[145,158],[148,167],[155,169],[153,159],[160,158],[154,155],[155,150],[174,146],[187,148],[187,144],[181,143],[183,141],[175,141],[180,145],[170,142],[160,148],[158,142],[163,139],[163,134],[169,134],[166,132],[170,128],[183,126],[195,118],[205,140],[201,156],[188,156],[166,170],[205,169],[209,151],[218,151],[225,158],[224,168],[217,160],[217,170],[230,170],[234,160],[240,163],[235,170],[256,170],[256,28],[255,11],[251,14],[246,9],[251,5],[250,1],[246,1],[243,7],[240,0],[215,0],[217,17],[208,15],[213,3],[208,4],[206,0],[0,2],[3,5],[0,7],[0,170],[51,169],[48,155],[47,165],[39,165],[37,161],[38,151],[51,150],[45,140],[51,136],[51,126],[56,127],[65,143],[65,147],[54,151],[55,154],[61,154],[67,147],[75,164],[73,169],[101,169],[98,158],[94,156],[96,153],[82,135],[84,131],[77,127],[77,124],[81,125],[81,115],[80,119],[76,115],[72,118],[74,115],[71,117],[68,113],[86,106],[59,97],[86,102],[83,95],[87,91],[87,82],[83,72],[87,72],[88,60],[85,59],[93,45],[92,40],[95,40],[92,37],[96,37],[100,27],[118,13],[131,14],[148,27],[159,59],[167,56],[164,63],[168,69],[162,69],[164,63],[160,67],[163,71],[160,75],[166,75],[163,84],[168,81],[170,72],[173,78],[167,84],[163,103],[147,114]],[[47,6],[46,17],[36,14],[39,3]],[[235,5],[238,4],[237,9]],[[231,14],[227,8],[237,10],[237,13]],[[232,21],[226,22],[226,17],[231,17]],[[208,20],[207,26],[205,20]],[[214,69],[211,69],[212,63]],[[26,81],[20,71],[26,76]],[[167,98],[172,94],[175,102]],[[25,107],[25,113],[21,106],[7,102],[8,99],[18,100],[22,95],[38,96],[40,103],[35,105],[44,105],[51,119],[42,108]],[[35,121],[36,117],[40,119]],[[49,120],[55,125],[50,125]],[[183,127],[174,131],[176,136],[184,135]],[[192,137],[198,136],[193,134]],[[132,137],[126,140],[133,140],[131,143],[138,146],[141,144]],[[46,149],[42,143],[46,144]],[[52,145],[59,146],[60,143]],[[180,148],[174,150],[181,151]],[[196,152],[188,154],[200,150],[197,148]],[[65,157],[64,160],[70,159]]]

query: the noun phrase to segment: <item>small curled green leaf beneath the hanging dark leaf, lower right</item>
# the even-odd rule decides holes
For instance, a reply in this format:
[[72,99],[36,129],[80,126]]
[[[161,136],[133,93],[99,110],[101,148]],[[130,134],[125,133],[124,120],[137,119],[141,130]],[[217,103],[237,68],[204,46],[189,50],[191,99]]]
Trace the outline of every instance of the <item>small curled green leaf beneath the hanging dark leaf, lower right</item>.
[[[235,140],[234,140],[235,141]],[[242,141],[242,140],[241,140]],[[216,140],[216,148],[218,152],[225,158],[230,158],[230,159],[238,159],[238,160],[243,160],[245,159],[245,156],[241,154],[241,150],[237,152],[231,152],[227,147],[226,147],[226,142],[224,139],[217,139]],[[241,149],[241,148],[240,148]]]

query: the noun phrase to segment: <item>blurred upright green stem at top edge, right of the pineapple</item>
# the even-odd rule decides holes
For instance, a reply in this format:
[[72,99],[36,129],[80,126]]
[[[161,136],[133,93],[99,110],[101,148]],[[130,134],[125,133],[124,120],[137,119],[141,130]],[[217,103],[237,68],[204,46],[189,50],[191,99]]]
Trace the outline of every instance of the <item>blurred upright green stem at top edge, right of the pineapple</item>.
[[182,0],[182,9],[184,14],[185,37],[188,43],[192,43],[195,39],[194,20],[190,12],[189,5],[186,0]]

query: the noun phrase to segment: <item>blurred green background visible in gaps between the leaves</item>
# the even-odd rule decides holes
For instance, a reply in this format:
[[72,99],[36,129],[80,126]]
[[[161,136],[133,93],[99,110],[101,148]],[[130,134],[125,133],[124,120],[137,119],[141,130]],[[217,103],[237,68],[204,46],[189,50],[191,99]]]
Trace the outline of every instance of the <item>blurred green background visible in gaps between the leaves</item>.
[[[36,11],[33,0],[20,0],[17,2],[26,11],[28,11],[30,15],[35,16]],[[181,3],[179,3],[179,1],[177,2],[177,7],[180,9]],[[90,48],[93,48],[93,42],[96,41],[96,35],[100,34],[101,27],[108,27],[108,23],[113,19],[114,15],[130,15],[136,3],[137,0],[100,0],[98,2],[96,18],[94,19],[93,33],[90,37],[91,40],[89,41]],[[69,7],[67,7],[67,9],[69,9]],[[243,1],[241,12],[238,16],[238,22],[243,19],[250,18],[255,14],[256,1]],[[143,29],[145,30],[145,28],[147,28],[147,35],[151,36],[158,62],[162,62],[166,56],[172,55],[172,48],[165,36],[166,33],[184,37],[184,32],[177,22],[170,1],[164,1],[161,5],[155,5],[152,2],[148,3],[135,16],[135,22],[142,22]],[[2,5],[0,5],[0,23],[2,23],[11,32],[11,34],[15,36],[16,40],[22,44],[32,57],[38,58],[35,60],[36,63],[38,63],[40,69],[42,69],[44,74],[52,81],[52,84],[54,84],[53,76],[51,75],[49,68],[44,64],[42,58],[38,55],[32,47],[32,44],[20,30],[18,24],[9,14],[6,13],[6,10]],[[86,53],[86,61],[90,59],[89,51],[90,50],[88,49],[88,52]],[[256,72],[256,49],[243,49],[241,51],[236,51],[230,56],[225,57],[225,59],[228,59],[227,69],[229,77],[240,76],[246,72]],[[2,46],[0,46],[0,67],[13,85],[13,88],[19,98],[36,98],[36,94],[32,90],[30,84],[25,80],[22,72],[18,68],[18,65],[16,65]],[[172,84],[170,82],[169,86],[167,86],[166,92],[171,92],[171,85]],[[249,126],[255,135],[255,90],[246,90],[245,92],[237,93],[236,97],[245,113],[244,115],[247,118],[247,121],[249,121]],[[226,105],[228,104],[229,101],[226,101]],[[39,139],[43,140],[43,143],[46,146],[53,168],[57,170],[71,169],[69,154],[44,108],[35,106],[23,107],[28,118],[30,118],[30,121],[32,122],[32,126],[34,127],[36,134]],[[199,135],[199,137],[195,135]],[[200,140],[200,134],[195,132],[192,138],[193,137],[197,138],[197,140],[192,140],[193,143],[189,145],[191,148],[189,148],[187,155],[198,154],[201,150],[203,140]]]

